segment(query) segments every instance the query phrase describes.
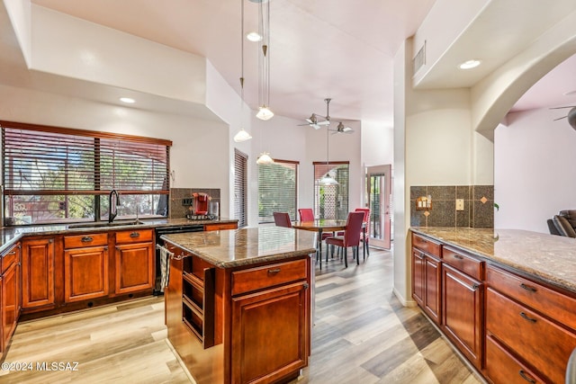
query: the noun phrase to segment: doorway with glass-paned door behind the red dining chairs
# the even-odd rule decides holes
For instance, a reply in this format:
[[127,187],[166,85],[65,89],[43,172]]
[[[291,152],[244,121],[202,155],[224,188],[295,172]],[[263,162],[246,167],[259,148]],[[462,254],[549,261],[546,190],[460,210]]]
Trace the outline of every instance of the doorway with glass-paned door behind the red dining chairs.
[[392,242],[392,165],[366,167],[366,201],[370,208],[370,246],[390,249]]

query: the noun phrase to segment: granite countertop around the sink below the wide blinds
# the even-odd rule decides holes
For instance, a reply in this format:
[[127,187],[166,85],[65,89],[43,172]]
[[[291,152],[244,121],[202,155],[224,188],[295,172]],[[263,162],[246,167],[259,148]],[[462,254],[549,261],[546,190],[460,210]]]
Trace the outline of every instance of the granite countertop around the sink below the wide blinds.
[[[94,226],[83,228],[69,228],[67,224],[48,224],[37,226],[16,226],[16,227],[2,227],[0,228],[0,252],[4,252],[6,248],[12,246],[15,242],[24,236],[41,236],[41,235],[60,235],[60,234],[74,234],[85,232],[106,232],[110,230],[122,230],[128,228],[167,228],[179,226],[194,226],[204,224],[226,224],[237,223],[238,219],[214,219],[214,220],[189,220],[189,219],[141,219],[142,224],[121,225],[122,223],[130,223],[134,220],[115,220],[113,226]],[[84,223],[83,223],[84,224]],[[89,225],[90,223],[85,223]]]

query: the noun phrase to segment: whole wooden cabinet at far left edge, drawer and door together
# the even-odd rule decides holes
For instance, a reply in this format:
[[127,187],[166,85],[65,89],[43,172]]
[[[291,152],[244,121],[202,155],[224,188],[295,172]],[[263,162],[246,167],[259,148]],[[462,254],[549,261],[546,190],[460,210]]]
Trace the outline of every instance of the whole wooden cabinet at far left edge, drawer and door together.
[[0,265],[0,358],[4,356],[14,334],[21,306],[21,246],[16,244],[5,251]]

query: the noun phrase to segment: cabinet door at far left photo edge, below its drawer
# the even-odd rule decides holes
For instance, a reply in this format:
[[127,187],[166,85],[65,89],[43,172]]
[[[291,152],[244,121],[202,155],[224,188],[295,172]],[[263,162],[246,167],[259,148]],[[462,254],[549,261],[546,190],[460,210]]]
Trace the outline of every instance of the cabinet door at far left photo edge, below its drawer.
[[9,344],[10,337],[14,334],[16,321],[18,320],[18,265],[13,263],[2,278],[2,341],[4,348]]

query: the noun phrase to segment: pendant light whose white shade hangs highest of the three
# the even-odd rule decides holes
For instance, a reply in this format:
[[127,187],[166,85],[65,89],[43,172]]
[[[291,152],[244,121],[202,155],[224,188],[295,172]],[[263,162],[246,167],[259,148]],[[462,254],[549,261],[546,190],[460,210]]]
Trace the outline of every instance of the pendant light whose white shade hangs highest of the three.
[[270,120],[274,112],[270,110],[270,2],[260,1],[258,4],[258,33],[262,36],[258,53],[258,112],[260,120]]

